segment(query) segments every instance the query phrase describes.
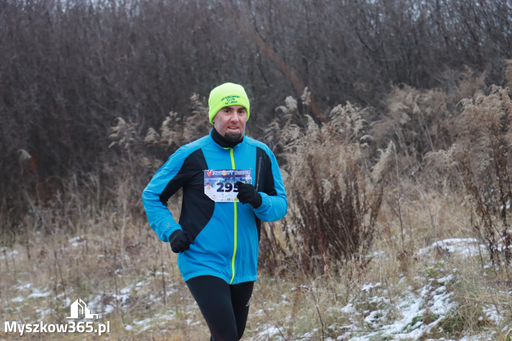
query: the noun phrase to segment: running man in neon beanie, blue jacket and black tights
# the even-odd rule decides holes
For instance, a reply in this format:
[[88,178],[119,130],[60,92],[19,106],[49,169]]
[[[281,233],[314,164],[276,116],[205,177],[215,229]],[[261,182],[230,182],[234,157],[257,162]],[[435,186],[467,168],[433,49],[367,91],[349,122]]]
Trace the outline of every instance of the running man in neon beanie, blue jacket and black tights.
[[[142,194],[151,228],[178,253],[178,267],[211,333],[236,341],[245,330],[257,280],[261,222],[282,219],[288,201],[278,163],[245,136],[249,99],[242,86],[210,92],[210,133],[180,147]],[[183,188],[177,223],[168,199]]]

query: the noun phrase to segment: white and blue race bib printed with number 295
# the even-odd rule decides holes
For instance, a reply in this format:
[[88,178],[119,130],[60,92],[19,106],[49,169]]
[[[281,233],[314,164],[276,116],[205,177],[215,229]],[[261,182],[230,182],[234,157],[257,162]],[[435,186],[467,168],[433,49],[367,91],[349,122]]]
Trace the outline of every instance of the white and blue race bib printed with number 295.
[[213,201],[238,201],[237,181],[251,183],[251,171],[247,169],[206,169],[204,194]]

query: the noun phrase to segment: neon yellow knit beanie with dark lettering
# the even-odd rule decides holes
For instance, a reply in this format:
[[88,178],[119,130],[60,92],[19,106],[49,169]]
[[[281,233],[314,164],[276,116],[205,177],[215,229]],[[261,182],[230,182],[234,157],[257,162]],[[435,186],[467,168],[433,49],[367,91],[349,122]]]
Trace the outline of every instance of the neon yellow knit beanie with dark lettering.
[[210,98],[208,99],[208,116],[210,123],[214,124],[212,120],[215,115],[229,105],[242,105],[247,110],[247,119],[249,119],[249,98],[245,93],[244,88],[239,84],[224,83],[210,92]]

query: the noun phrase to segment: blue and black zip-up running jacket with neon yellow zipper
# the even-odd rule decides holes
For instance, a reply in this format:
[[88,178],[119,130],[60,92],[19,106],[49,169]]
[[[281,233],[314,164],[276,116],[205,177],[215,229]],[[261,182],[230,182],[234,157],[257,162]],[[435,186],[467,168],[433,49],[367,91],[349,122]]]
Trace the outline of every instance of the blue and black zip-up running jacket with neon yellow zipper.
[[[252,208],[240,202],[214,202],[204,194],[206,169],[250,169],[262,204]],[[167,200],[179,188],[183,188],[183,201],[176,223]],[[270,148],[247,136],[236,145],[226,144],[215,129],[171,155],[144,189],[142,200],[150,226],[162,241],[167,242],[177,229],[194,241],[178,254],[185,281],[212,275],[229,284],[257,280],[261,221],[280,220],[288,208]]]

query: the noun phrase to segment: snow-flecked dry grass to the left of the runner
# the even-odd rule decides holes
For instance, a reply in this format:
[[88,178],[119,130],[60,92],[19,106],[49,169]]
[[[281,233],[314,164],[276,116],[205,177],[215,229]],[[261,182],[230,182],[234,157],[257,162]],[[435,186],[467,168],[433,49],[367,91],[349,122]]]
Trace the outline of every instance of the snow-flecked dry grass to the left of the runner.
[[[26,241],[4,250],[3,319],[29,323],[44,317],[46,323],[67,323],[69,305],[80,297],[86,303],[94,301],[96,312],[109,312],[101,319],[110,321],[111,334],[120,339],[151,339],[160,329],[172,334],[180,330],[183,338],[177,339],[206,335],[205,326],[188,321],[201,321],[200,312],[168,245],[135,217],[127,218],[122,244],[118,220],[111,217],[111,212],[102,212],[84,221],[75,237],[57,228],[46,237],[27,233]],[[174,317],[172,325],[167,325],[169,316]],[[136,328],[147,318],[154,330],[147,335],[134,336],[124,328]]]

